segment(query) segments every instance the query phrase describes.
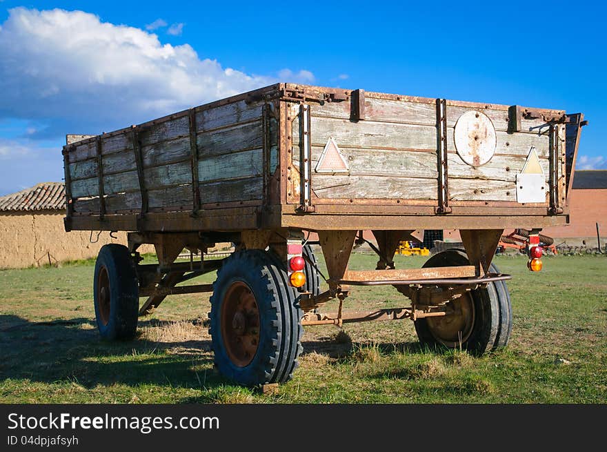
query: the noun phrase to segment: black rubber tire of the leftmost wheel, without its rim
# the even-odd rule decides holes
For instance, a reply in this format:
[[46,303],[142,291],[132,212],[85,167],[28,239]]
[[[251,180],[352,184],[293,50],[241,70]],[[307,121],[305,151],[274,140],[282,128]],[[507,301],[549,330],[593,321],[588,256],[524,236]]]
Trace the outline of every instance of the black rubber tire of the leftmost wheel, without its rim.
[[[107,272],[109,281],[109,315],[107,323],[101,316],[99,275]],[[139,286],[137,271],[128,248],[119,244],[103,245],[94,269],[94,309],[99,334],[104,340],[128,340],[137,332]]]

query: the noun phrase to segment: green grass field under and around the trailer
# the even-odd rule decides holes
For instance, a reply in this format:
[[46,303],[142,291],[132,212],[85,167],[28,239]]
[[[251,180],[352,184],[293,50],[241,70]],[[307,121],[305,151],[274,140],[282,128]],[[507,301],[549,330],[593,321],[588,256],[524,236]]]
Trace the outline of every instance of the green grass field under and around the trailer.
[[[397,257],[397,267],[425,259]],[[355,254],[350,266],[375,268],[376,260]],[[543,260],[541,273],[527,271],[524,257],[495,260],[515,275],[505,350],[483,357],[423,350],[408,320],[348,324],[339,335],[335,326],[308,327],[301,366],[277,395],[214,371],[203,326],[208,295],[169,297],[139,322],[137,340],[110,344],[94,324],[94,262],[0,271],[0,402],[605,403],[607,257]],[[407,305],[379,286],[355,288],[345,310]]]

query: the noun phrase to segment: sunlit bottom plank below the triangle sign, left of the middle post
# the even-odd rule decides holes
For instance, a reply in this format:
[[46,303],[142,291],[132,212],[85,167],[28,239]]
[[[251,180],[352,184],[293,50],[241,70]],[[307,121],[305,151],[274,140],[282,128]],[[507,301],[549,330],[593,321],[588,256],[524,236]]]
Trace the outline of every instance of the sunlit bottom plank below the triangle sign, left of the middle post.
[[320,198],[437,199],[437,179],[378,176],[312,175],[312,189]]

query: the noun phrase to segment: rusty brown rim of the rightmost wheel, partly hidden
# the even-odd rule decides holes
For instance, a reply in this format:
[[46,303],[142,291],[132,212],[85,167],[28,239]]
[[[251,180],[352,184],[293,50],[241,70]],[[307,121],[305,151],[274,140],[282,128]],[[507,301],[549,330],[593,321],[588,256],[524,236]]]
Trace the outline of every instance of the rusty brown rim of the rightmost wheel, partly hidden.
[[472,295],[465,293],[451,302],[453,313],[444,317],[427,317],[432,336],[445,346],[456,348],[463,345],[474,328],[475,307]]

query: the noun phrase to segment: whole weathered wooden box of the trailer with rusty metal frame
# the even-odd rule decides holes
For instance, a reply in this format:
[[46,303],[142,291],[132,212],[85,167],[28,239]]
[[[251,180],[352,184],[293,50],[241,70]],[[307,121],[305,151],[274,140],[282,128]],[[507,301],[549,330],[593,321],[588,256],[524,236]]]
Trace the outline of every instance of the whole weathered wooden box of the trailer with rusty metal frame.
[[[562,110],[277,83],[115,132],[69,135],[66,229],[566,224],[582,122]],[[533,164],[543,195],[521,202],[517,180]]]

